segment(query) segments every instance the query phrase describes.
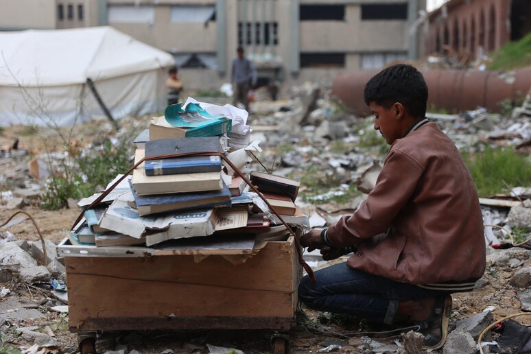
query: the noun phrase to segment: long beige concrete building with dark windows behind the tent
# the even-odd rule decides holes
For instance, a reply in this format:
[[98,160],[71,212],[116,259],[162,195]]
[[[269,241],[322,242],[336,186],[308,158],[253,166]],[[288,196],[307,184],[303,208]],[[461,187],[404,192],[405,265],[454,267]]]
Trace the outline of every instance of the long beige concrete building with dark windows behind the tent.
[[[330,83],[340,72],[418,58],[426,1],[2,0],[1,6],[1,29],[111,25],[174,54],[186,88],[219,88],[230,81],[239,46],[262,84]],[[36,21],[41,14],[45,19]]]

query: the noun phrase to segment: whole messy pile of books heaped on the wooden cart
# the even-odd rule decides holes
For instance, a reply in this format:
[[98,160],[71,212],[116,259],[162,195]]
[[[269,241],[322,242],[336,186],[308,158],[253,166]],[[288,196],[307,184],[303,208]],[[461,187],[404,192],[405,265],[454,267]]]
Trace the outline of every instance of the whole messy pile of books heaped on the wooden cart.
[[[250,198],[255,193],[248,192],[245,180],[224,172],[220,139],[226,139],[231,119],[205,118],[207,113],[199,105],[188,106],[186,110],[168,106],[165,117],[153,119],[147,131],[139,134],[134,141],[135,165],[146,159],[102,202],[86,209],[97,193],[78,203],[84,217],[69,232],[71,244],[168,250],[193,244],[195,239],[200,239],[201,247],[212,247],[220,237],[227,241],[229,236],[241,235],[259,240],[257,244],[269,237],[287,237],[274,213],[257,208]],[[246,139],[239,143],[244,145]],[[185,155],[167,157],[175,154]],[[250,178],[274,211],[291,217],[290,222],[298,226],[309,226],[307,216],[294,203],[298,182],[261,172],[251,172]]]

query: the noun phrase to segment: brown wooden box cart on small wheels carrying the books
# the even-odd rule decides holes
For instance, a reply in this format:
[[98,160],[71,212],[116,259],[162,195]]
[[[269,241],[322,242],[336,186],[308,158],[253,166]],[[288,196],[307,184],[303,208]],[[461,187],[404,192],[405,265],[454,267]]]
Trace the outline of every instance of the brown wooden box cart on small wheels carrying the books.
[[[222,255],[158,255],[152,248],[69,246],[65,256],[69,329],[78,333],[150,329],[268,329],[274,352],[287,351],[296,325],[302,268],[294,237],[269,241],[245,263]],[[190,252],[188,252],[190,253]],[[82,353],[94,353],[84,340]]]

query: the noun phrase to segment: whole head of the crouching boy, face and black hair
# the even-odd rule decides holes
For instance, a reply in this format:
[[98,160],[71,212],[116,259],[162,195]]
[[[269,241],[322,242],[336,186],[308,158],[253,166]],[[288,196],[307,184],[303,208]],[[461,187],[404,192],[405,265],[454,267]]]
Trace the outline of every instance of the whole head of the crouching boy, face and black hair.
[[426,114],[427,86],[411,65],[398,64],[377,73],[365,85],[365,103],[375,115],[375,130],[391,145]]

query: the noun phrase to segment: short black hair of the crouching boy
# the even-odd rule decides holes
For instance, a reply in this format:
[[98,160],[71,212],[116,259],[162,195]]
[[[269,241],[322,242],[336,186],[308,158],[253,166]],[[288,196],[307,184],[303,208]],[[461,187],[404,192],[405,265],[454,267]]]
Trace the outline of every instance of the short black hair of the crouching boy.
[[422,74],[408,64],[397,64],[377,73],[365,85],[364,98],[390,109],[399,102],[414,119],[426,115],[428,90]]

